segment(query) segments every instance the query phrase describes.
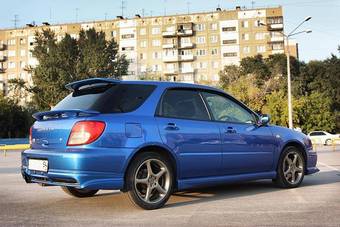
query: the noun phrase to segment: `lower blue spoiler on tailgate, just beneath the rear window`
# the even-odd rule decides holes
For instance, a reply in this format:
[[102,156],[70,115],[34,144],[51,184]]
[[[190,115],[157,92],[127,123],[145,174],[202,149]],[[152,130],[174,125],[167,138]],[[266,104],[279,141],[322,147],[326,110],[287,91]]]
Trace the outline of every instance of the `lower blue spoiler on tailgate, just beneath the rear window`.
[[46,112],[38,112],[32,115],[36,120],[46,120],[50,118],[67,118],[67,117],[78,117],[78,116],[92,116],[100,114],[98,111],[94,110],[51,110]]

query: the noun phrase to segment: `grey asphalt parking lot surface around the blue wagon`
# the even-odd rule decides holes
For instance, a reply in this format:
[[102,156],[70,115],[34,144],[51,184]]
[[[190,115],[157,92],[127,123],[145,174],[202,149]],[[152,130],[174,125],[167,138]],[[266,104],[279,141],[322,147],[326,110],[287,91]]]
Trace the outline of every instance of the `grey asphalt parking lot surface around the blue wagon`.
[[297,189],[270,180],[197,189],[145,211],[119,191],[76,199],[59,187],[26,184],[20,152],[0,153],[0,226],[340,226],[340,147],[318,154],[321,171]]

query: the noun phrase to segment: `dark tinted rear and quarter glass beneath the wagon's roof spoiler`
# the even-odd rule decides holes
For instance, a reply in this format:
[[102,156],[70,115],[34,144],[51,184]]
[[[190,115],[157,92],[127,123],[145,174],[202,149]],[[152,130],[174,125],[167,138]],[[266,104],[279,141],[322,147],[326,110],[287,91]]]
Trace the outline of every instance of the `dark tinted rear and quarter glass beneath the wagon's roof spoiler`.
[[156,86],[141,84],[94,84],[83,87],[59,102],[53,110],[81,109],[101,113],[127,113],[136,110]]

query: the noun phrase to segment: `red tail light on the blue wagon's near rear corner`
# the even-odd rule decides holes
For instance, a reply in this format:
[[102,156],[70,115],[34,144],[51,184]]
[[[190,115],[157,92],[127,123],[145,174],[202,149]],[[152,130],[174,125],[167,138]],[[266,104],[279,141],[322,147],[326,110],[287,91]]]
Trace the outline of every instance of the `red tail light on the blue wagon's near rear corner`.
[[101,121],[78,121],[72,128],[68,138],[68,146],[90,144],[97,140],[105,129]]

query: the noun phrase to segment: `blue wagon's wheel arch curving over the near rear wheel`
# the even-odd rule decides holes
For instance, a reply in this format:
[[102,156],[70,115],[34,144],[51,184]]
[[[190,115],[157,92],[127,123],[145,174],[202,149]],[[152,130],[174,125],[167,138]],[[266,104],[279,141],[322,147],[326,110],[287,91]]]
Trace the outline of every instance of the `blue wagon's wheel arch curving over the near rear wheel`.
[[127,170],[129,169],[131,163],[133,160],[137,157],[137,155],[146,152],[146,151],[155,151],[159,152],[160,154],[166,156],[169,158],[171,166],[174,170],[174,189],[177,188],[177,179],[178,179],[178,172],[179,172],[179,164],[177,160],[177,156],[175,153],[169,149],[168,147],[164,146],[163,144],[159,143],[150,143],[150,144],[144,144],[143,146],[138,147],[129,157],[127,161],[127,165],[124,168],[124,187],[122,191],[126,191],[126,175]]

